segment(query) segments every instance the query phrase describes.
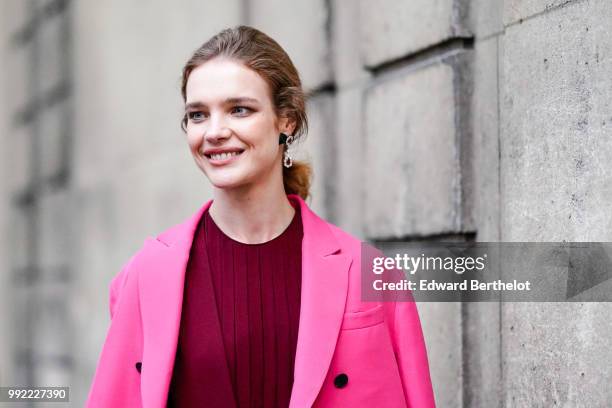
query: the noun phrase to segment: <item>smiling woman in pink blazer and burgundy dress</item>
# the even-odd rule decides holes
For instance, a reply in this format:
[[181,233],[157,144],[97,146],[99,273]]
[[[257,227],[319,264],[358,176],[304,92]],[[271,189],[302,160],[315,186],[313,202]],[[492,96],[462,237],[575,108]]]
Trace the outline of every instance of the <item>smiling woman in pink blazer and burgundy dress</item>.
[[360,241],[305,202],[310,169],[288,150],[304,94],[283,49],[223,30],[182,95],[214,198],[113,279],[88,406],[434,406],[414,303],[362,302]]

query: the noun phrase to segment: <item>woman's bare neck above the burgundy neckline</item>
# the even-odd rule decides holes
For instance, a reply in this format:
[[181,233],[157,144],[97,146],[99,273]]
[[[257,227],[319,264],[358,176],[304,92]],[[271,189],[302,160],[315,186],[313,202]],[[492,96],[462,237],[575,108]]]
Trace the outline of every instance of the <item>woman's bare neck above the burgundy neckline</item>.
[[295,209],[281,182],[242,189],[215,188],[208,212],[230,238],[259,244],[280,235],[291,223]]

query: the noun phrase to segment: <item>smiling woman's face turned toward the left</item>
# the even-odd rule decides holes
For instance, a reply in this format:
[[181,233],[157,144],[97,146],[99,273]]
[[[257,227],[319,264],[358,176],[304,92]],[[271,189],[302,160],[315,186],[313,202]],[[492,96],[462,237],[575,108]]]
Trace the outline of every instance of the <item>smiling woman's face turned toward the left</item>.
[[185,112],[189,149],[215,187],[266,182],[274,171],[282,177],[278,135],[290,129],[255,71],[226,58],[200,65],[187,81]]

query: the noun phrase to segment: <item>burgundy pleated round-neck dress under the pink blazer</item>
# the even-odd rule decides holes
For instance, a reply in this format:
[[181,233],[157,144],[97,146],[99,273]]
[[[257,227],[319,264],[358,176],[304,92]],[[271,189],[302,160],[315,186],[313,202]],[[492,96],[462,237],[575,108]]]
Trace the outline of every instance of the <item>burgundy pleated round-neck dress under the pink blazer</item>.
[[287,407],[300,315],[300,207],[281,235],[244,244],[208,211],[185,274],[169,407]]

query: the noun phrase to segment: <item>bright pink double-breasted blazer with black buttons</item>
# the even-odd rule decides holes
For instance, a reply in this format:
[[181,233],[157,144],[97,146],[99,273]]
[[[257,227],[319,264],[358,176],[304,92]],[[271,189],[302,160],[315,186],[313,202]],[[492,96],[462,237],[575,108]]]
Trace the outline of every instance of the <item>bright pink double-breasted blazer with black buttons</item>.
[[[361,242],[301,206],[302,293],[290,407],[434,407],[415,304],[363,302]],[[165,407],[193,216],[143,247],[110,285],[111,323],[88,407]],[[344,375],[342,375],[344,374]]]

